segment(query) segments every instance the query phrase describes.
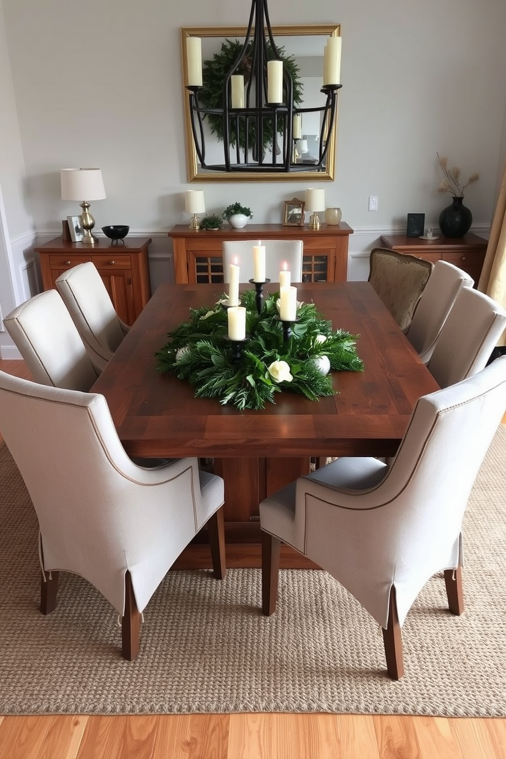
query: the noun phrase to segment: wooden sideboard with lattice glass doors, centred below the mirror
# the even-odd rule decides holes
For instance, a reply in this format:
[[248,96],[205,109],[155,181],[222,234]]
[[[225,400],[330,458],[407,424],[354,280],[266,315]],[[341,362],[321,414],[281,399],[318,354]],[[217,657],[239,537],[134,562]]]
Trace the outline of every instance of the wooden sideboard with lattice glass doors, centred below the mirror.
[[314,231],[282,224],[247,224],[216,230],[193,230],[178,224],[171,228],[174,273],[177,283],[223,282],[222,242],[225,240],[302,240],[303,282],[346,282],[348,238],[353,229],[344,222],[322,224]]

